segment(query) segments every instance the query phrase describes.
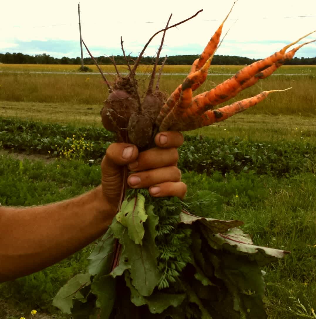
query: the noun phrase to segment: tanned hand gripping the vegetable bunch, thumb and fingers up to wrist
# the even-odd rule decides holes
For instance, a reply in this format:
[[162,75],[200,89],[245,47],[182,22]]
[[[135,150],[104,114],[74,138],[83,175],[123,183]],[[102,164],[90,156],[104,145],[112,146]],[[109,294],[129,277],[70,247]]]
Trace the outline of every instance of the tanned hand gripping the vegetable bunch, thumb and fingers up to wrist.
[[101,163],[102,191],[113,209],[119,204],[124,165],[133,172],[127,179],[131,188],[149,188],[154,197],[185,196],[187,187],[176,167],[179,159],[176,148],[183,144],[182,134],[158,133],[155,144],[157,147],[141,153],[135,145],[127,143],[113,143],[108,147]]

